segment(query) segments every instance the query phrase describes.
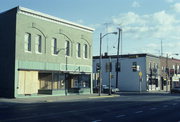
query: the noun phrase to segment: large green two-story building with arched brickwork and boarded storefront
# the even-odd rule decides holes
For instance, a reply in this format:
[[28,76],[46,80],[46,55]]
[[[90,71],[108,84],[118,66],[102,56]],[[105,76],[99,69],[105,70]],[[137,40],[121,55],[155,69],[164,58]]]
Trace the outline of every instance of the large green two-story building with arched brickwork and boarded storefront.
[[0,96],[92,92],[94,29],[16,7],[0,14]]

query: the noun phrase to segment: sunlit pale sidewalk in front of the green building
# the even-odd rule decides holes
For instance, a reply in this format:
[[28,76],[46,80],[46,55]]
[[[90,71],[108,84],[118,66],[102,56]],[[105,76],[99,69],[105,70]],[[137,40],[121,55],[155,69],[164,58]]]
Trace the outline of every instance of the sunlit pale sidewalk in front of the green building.
[[0,103],[46,103],[46,102],[72,102],[87,99],[97,99],[97,98],[109,98],[109,97],[119,97],[118,94],[87,94],[87,95],[68,95],[68,96],[37,96],[28,98],[0,98]]

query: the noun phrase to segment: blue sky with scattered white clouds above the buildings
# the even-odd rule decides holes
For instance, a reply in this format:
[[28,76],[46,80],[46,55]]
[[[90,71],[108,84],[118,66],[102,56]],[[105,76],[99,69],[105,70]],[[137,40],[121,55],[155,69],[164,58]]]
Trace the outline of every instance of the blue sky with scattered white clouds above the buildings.
[[[0,12],[16,6],[94,28],[93,55],[99,55],[100,33],[117,28],[122,54],[180,54],[180,0],[0,0]],[[103,53],[117,54],[118,35],[102,41]]]

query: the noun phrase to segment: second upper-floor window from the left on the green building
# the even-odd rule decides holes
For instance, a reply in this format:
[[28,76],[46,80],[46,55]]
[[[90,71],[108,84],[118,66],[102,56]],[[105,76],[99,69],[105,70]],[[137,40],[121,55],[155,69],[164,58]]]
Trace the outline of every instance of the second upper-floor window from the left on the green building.
[[36,53],[42,53],[42,38],[40,35],[37,35],[35,42]]

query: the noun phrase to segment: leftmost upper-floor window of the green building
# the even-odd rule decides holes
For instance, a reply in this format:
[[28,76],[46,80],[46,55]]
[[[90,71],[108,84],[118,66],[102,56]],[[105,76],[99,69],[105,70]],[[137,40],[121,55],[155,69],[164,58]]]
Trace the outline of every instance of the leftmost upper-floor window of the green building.
[[31,34],[26,33],[24,36],[24,49],[25,51],[31,52]]

